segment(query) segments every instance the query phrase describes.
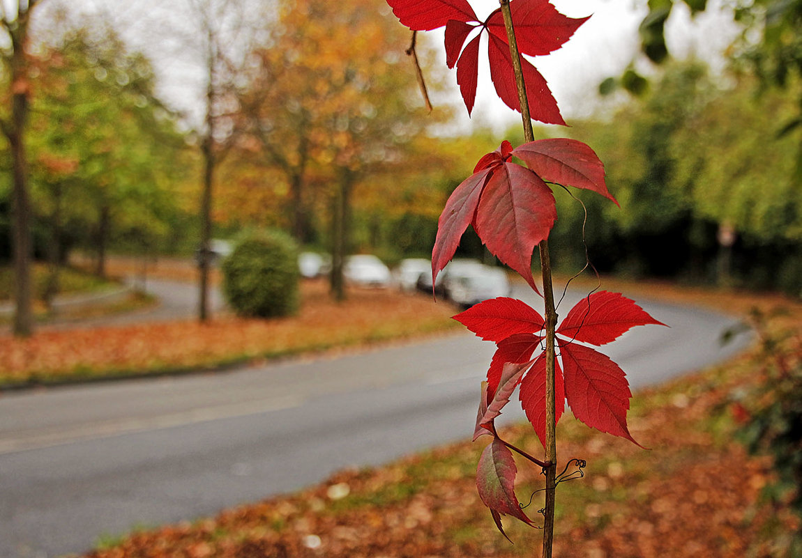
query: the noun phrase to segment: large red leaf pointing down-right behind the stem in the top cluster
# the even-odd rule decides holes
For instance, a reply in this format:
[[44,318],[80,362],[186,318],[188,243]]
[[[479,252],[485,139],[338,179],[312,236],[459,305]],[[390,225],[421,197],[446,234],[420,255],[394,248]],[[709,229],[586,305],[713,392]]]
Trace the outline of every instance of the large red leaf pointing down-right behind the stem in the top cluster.
[[[490,34],[489,37],[490,78],[493,85],[496,86],[496,94],[504,101],[504,104],[512,110],[520,112],[518,87],[512,70],[512,57],[509,54],[509,46],[494,34]],[[565,120],[562,119],[560,108],[557,106],[557,101],[554,100],[545,78],[526,58],[520,58],[520,65],[524,72],[526,97],[532,118],[546,124],[561,124],[565,126]]]

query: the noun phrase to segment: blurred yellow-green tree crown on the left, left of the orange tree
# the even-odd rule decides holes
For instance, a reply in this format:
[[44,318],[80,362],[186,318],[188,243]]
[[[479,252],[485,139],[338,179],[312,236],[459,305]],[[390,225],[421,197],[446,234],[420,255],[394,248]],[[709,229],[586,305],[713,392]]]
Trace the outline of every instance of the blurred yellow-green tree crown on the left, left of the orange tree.
[[37,207],[50,223],[51,267],[64,258],[69,231],[95,247],[95,271],[104,275],[112,235],[131,231],[142,243],[166,235],[168,215],[177,211],[168,187],[186,171],[187,146],[154,94],[148,59],[130,53],[102,22],[40,50],[30,147]]

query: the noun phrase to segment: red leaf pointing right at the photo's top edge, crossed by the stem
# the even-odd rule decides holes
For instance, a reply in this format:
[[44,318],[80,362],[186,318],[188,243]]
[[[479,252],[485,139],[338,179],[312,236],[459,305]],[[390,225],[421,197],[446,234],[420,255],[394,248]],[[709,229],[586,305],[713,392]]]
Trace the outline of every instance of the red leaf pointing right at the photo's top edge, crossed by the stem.
[[[509,4],[515,38],[521,54],[541,56],[557,50],[588,18],[569,18],[549,0],[516,0]],[[504,16],[496,10],[487,20],[488,31],[507,42]]]

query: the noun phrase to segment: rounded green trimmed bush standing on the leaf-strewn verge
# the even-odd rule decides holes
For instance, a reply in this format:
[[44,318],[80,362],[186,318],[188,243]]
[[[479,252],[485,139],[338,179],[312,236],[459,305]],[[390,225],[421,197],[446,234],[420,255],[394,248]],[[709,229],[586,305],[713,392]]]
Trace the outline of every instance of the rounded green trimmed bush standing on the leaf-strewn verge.
[[272,318],[298,311],[298,247],[282,231],[243,237],[223,260],[223,292],[237,315]]

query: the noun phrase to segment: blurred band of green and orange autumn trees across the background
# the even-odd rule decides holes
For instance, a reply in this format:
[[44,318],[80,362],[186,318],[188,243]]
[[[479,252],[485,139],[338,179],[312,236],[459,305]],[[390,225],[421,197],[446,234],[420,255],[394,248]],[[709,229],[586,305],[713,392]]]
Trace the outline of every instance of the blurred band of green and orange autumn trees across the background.
[[[411,37],[383,5],[241,2],[226,19],[208,12],[226,2],[207,3],[120,20],[42,0],[47,11],[33,12],[24,69],[14,70],[30,110],[30,223],[12,218],[19,212],[13,143],[6,141],[0,261],[11,262],[14,231],[31,231],[31,253],[50,262],[48,292],[55,295],[59,266],[75,251],[91,255],[102,275],[109,251],[190,256],[212,237],[278,227],[304,249],[334,255],[331,290],[342,297],[338,270],[346,254],[369,251],[387,263],[426,256],[445,199],[499,135],[453,125],[453,76],[428,63],[441,46],[419,42],[435,94],[427,114],[404,52]],[[589,255],[600,271],[802,293],[799,6],[759,0],[733,10],[743,33],[724,54],[724,69],[710,70],[694,59],[672,60],[664,24],[676,6],[648,2],[643,51],[660,64],[643,76],[634,70],[642,65],[630,66],[608,80],[606,93],[636,94],[609,95],[568,130],[597,149],[622,206],[580,196],[589,211]],[[192,14],[221,24],[211,35],[209,26],[194,50],[188,41],[200,37],[195,23],[205,20]],[[139,41],[132,40],[135,19]],[[240,27],[247,40],[221,52],[220,41]],[[201,78],[187,90],[196,110],[180,113],[175,94],[165,93],[170,76],[159,68],[188,49]],[[2,77],[6,122],[13,121],[10,63]],[[517,134],[507,136],[520,143]],[[577,233],[584,211],[567,195],[558,198],[564,207],[554,259],[569,273],[585,261]],[[208,221],[200,219],[207,213]],[[482,258],[484,250],[468,238],[459,255]]]

